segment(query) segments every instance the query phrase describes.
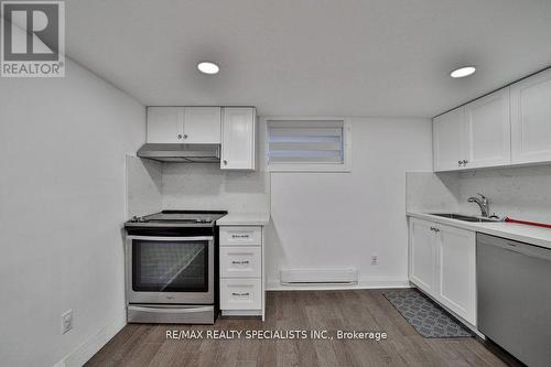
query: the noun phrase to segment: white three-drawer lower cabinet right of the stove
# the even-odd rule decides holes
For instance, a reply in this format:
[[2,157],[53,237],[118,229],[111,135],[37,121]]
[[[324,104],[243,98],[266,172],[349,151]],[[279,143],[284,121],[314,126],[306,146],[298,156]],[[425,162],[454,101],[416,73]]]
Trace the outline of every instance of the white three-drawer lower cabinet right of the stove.
[[262,226],[220,226],[223,316],[264,319]]

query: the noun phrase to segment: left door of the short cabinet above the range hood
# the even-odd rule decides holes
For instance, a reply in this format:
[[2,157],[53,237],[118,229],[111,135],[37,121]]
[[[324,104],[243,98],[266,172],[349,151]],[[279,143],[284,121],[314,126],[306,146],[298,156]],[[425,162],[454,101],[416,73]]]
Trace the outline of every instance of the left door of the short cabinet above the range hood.
[[148,142],[181,143],[183,123],[183,107],[148,107]]

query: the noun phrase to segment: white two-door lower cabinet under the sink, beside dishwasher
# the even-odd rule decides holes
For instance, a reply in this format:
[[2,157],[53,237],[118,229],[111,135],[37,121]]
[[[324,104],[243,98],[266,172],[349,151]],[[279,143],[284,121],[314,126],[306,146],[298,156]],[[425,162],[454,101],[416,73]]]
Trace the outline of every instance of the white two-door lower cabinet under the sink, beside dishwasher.
[[410,218],[409,278],[435,301],[476,326],[474,231]]

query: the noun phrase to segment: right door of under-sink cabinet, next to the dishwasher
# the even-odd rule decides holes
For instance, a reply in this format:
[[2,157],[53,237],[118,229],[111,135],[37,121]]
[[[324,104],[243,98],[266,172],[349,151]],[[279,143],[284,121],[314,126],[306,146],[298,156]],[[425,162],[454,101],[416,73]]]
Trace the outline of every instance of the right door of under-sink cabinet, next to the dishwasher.
[[437,226],[437,300],[476,326],[475,233]]

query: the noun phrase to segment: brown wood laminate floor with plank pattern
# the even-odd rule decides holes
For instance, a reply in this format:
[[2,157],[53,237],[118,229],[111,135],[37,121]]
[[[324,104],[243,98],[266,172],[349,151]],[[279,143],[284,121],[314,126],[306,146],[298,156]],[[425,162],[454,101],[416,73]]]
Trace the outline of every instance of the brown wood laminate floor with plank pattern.
[[[268,292],[266,322],[218,319],[215,325],[129,324],[86,366],[506,366],[475,338],[423,338],[381,290]],[[381,342],[352,339],[168,339],[166,331],[380,331]],[[245,334],[245,333],[244,333]]]

